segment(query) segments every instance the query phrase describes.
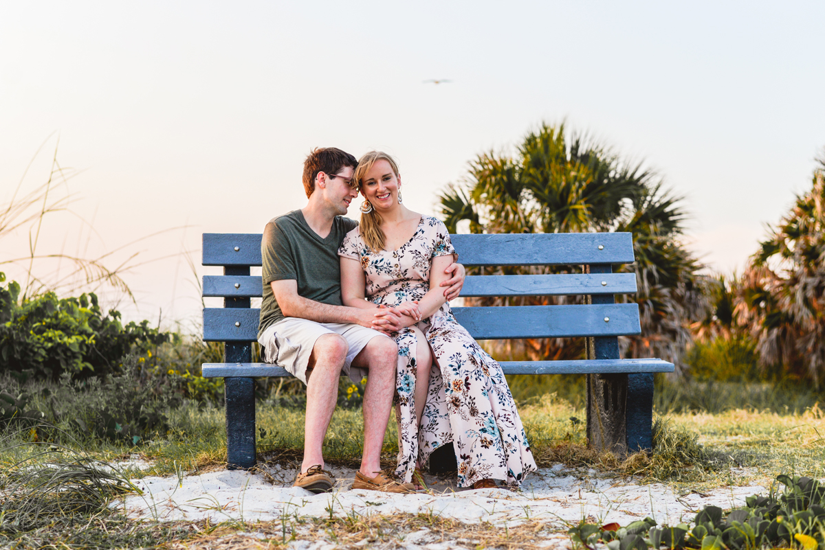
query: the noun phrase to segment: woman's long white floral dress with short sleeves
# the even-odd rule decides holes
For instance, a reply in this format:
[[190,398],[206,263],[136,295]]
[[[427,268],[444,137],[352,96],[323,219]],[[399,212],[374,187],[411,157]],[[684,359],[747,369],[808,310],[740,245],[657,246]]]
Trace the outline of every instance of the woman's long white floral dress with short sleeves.
[[[375,304],[399,305],[420,300],[430,289],[430,267],[436,256],[455,254],[446,226],[422,217],[413,237],[397,250],[373,253],[356,229],[347,233],[338,254],[361,262],[365,296]],[[413,478],[416,459],[425,464],[433,450],[452,442],[459,487],[484,478],[521,485],[535,460],[501,366],[455,320],[444,304],[417,328],[427,336],[435,356],[422,414],[415,412],[415,333],[394,333],[398,344],[396,409],[398,468],[404,482]],[[440,367],[440,368],[439,368]]]

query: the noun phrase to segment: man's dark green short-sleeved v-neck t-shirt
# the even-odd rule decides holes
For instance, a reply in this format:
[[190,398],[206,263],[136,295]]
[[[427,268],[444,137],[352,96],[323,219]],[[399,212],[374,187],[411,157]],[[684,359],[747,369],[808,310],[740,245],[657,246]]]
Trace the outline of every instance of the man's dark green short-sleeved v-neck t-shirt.
[[298,282],[298,296],[323,304],[341,301],[341,259],[338,247],[357,221],[336,216],[326,239],[312,230],[300,210],[276,217],[266,224],[261,241],[263,302],[258,338],[267,327],[284,319],[270,283],[285,279]]

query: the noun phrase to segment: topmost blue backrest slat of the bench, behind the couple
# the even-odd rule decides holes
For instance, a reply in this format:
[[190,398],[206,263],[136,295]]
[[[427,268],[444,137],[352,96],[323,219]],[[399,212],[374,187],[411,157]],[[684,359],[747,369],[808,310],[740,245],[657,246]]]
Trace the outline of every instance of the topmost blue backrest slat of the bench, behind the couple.
[[[259,266],[261,239],[260,233],[204,233],[203,264]],[[450,235],[450,239],[459,253],[459,261],[468,266],[634,261],[630,233]]]

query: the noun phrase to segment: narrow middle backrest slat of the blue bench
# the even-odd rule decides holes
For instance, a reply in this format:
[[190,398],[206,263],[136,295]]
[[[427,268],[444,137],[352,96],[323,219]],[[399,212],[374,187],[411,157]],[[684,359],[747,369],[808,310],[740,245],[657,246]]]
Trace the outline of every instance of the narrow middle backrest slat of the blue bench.
[[[634,273],[470,275],[464,280],[461,296],[579,296],[633,294],[635,291],[636,276]],[[261,294],[260,275],[250,277],[205,275],[203,277],[203,296],[205,297],[260,298]]]

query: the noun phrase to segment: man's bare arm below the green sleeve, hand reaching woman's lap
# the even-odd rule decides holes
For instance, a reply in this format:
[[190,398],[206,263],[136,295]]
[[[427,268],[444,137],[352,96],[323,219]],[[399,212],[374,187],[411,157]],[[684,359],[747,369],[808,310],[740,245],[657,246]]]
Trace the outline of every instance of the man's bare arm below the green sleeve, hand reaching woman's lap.
[[295,279],[272,281],[270,285],[281,313],[286,317],[299,317],[316,323],[354,323],[384,333],[394,332],[400,327],[397,315],[382,312],[379,318],[375,315],[375,309],[361,310],[346,305],[322,304],[299,296],[298,282]]

